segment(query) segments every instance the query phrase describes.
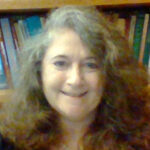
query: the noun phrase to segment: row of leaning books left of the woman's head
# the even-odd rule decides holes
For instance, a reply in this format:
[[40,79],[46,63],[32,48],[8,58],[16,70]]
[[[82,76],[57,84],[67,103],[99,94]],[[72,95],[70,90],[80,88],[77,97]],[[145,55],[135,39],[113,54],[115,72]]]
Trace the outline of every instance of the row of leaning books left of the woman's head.
[[0,18],[0,89],[17,86],[19,51],[24,42],[38,34],[44,16],[11,16]]

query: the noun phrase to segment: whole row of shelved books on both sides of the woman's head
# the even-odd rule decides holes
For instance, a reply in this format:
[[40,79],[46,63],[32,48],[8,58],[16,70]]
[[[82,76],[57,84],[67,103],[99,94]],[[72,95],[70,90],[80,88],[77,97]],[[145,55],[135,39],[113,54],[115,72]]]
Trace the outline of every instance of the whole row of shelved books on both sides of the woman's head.
[[[129,41],[139,64],[150,72],[150,14],[136,12],[127,16],[105,13],[116,28]],[[11,16],[0,18],[0,89],[17,86],[18,53],[26,39],[38,34],[45,23],[45,16]]]

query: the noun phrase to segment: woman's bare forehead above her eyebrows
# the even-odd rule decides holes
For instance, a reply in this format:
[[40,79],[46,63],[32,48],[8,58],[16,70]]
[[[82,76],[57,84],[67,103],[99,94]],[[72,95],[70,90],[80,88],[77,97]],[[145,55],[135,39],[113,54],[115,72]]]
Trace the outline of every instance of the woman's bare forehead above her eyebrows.
[[80,36],[70,29],[57,32],[52,43],[49,45],[46,55],[53,57],[56,55],[71,55],[86,57],[91,56],[88,47],[82,42]]

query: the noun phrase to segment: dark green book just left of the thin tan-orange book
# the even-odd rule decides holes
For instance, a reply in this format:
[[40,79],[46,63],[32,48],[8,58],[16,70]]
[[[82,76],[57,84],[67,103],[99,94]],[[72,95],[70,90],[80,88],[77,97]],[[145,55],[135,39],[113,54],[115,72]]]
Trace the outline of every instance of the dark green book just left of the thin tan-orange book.
[[134,50],[134,57],[137,60],[139,59],[139,53],[140,53],[144,16],[145,16],[144,13],[140,13],[140,12],[136,16],[133,50]]

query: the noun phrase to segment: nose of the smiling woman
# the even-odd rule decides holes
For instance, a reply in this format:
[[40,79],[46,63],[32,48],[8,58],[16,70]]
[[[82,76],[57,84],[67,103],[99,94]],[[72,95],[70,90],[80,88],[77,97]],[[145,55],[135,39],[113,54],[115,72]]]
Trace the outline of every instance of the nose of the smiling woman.
[[80,66],[77,64],[73,65],[68,71],[67,85],[78,88],[83,86],[83,82],[83,74]]

